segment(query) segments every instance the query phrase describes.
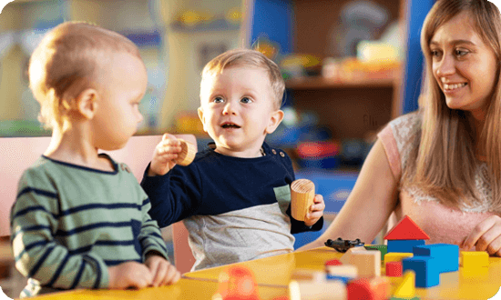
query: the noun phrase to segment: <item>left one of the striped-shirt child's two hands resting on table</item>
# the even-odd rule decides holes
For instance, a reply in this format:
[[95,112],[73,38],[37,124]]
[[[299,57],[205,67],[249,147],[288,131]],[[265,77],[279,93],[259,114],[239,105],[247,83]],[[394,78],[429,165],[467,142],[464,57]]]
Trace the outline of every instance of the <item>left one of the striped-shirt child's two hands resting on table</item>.
[[148,267],[138,262],[127,262],[107,268],[109,288],[126,289],[128,287],[143,288],[151,285],[153,275]]

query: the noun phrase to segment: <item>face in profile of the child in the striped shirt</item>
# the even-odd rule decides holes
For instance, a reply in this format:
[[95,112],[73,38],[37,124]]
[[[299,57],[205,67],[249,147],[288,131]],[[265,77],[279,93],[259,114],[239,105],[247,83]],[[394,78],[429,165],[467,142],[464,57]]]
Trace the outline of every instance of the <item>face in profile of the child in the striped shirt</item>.
[[126,53],[113,54],[106,68],[99,83],[103,92],[97,99],[93,131],[97,148],[115,150],[126,145],[143,120],[138,105],[145,95],[148,75],[141,59]]

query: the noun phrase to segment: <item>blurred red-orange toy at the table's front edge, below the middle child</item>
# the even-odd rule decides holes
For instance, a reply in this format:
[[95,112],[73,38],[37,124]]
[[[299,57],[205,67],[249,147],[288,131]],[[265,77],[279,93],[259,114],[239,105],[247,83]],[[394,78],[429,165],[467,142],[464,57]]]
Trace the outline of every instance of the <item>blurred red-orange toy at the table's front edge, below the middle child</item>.
[[221,272],[219,282],[218,292],[212,295],[212,300],[261,300],[256,278],[245,266],[230,266]]

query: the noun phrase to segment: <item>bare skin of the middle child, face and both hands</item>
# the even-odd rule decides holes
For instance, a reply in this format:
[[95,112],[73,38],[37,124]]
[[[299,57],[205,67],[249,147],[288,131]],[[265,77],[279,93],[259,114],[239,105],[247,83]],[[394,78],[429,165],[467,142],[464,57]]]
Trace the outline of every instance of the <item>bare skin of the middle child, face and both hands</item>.
[[[283,112],[274,105],[268,75],[260,68],[232,66],[210,79],[199,118],[216,143],[215,151],[235,157],[260,157],[266,135],[275,131]],[[224,128],[224,124],[238,128]],[[165,175],[176,165],[181,147],[174,135],[165,134],[153,153],[148,175]],[[314,225],[323,215],[322,195],[315,195],[304,224]]]

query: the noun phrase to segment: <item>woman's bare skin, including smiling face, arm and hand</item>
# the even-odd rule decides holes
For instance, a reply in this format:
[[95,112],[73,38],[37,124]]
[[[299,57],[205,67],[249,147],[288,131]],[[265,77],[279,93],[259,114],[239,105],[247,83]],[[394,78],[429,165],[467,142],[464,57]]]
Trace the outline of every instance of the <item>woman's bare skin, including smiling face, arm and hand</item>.
[[[496,81],[496,57],[470,23],[469,15],[456,15],[440,26],[430,43],[435,80],[446,104],[470,113],[477,132],[485,124],[486,101]],[[479,72],[484,72],[479,74]],[[477,154],[484,153],[477,146]],[[373,145],[353,191],[332,225],[316,241],[299,250],[323,246],[327,239],[361,238],[372,241],[398,204],[397,186],[381,141]],[[371,217],[368,218],[367,215]],[[486,251],[501,256],[501,218],[491,215],[465,236],[462,250]]]

